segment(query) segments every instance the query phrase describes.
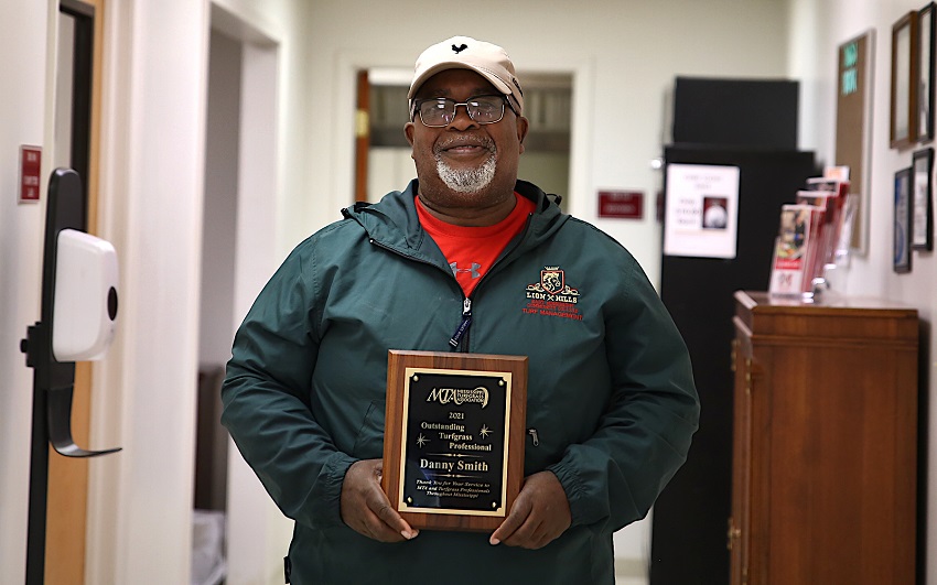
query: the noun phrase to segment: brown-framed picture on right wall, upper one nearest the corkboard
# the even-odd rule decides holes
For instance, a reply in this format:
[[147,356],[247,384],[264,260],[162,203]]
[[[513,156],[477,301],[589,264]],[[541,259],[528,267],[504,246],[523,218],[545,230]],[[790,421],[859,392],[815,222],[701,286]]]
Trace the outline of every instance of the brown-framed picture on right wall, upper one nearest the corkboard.
[[893,149],[917,141],[917,11],[911,11],[892,25],[890,143]]

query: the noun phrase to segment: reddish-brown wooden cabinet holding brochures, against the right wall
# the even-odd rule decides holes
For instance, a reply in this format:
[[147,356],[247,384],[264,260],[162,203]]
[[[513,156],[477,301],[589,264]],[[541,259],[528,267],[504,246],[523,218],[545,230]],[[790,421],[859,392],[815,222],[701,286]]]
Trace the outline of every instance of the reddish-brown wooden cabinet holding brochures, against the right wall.
[[913,585],[914,308],[735,293],[732,585]]

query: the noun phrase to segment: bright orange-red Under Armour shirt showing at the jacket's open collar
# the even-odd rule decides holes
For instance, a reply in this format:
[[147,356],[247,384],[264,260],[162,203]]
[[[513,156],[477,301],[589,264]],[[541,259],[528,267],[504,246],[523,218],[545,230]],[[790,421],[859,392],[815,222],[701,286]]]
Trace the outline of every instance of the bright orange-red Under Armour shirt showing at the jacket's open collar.
[[494,226],[485,227],[446,224],[427,212],[417,197],[420,224],[442,250],[466,297],[472,294],[478,280],[492,268],[508,242],[524,229],[527,216],[534,213],[534,202],[517,193],[514,196],[517,198],[517,205],[510,215]]

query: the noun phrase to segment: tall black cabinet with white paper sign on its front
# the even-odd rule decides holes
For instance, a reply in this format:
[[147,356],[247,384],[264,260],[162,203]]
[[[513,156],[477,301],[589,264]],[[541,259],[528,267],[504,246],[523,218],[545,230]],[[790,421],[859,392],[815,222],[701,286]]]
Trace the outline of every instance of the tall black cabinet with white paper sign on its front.
[[771,278],[780,206],[817,174],[814,154],[788,150],[668,147],[667,164],[740,169],[734,259],[664,256],[660,295],[687,342],[702,410],[686,465],[654,507],[651,585],[729,583],[732,478],[733,293]]

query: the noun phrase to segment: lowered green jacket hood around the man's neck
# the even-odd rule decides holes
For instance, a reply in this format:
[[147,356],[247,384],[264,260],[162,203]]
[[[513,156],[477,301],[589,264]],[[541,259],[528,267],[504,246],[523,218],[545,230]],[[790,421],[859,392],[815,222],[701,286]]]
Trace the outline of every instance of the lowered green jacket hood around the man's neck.
[[[524,241],[520,243],[521,248],[536,247],[569,219],[570,216],[563,214],[537,185],[527,181],[517,181],[514,189],[537,204]],[[417,206],[413,201],[417,193],[419,193],[419,181],[414,178],[402,192],[392,191],[376,204],[356,203],[352,207],[342,209],[342,215],[360,224],[368,238],[376,243],[409,256],[421,254],[426,249],[427,240],[431,238],[423,230],[417,216]]]

